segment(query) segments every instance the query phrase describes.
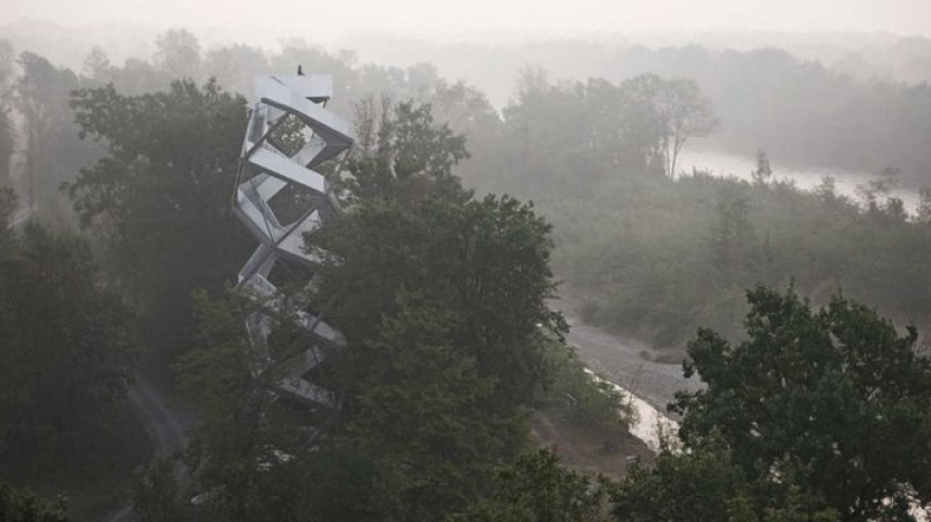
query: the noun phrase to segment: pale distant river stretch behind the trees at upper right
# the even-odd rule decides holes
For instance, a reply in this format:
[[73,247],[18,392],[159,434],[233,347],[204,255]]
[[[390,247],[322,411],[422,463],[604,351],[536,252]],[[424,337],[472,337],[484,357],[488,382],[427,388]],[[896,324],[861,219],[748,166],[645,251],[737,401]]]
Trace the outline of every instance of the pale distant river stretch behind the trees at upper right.
[[[734,176],[738,179],[752,181],[750,172],[756,169],[756,158],[752,156],[736,154],[722,150],[696,147],[682,150],[679,158],[678,171],[692,172],[692,167],[699,171],[708,171],[715,176]],[[821,184],[822,178],[831,176],[837,194],[857,200],[857,185],[870,179],[878,179],[878,173],[851,171],[843,169],[830,169],[810,165],[784,164],[779,159],[770,158],[773,179],[791,179],[798,188],[810,190]],[[892,196],[902,199],[909,213],[915,213],[918,206],[918,191],[898,188],[892,191]]]

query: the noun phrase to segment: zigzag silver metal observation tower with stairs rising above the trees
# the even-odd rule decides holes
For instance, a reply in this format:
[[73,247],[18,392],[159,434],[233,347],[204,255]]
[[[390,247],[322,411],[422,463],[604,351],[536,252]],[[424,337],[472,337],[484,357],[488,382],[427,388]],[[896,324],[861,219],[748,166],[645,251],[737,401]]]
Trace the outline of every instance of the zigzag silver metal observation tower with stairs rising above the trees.
[[[324,162],[337,161],[353,138],[349,124],[326,110],[332,91],[333,80],[327,75],[259,76],[255,80],[257,101],[243,141],[233,209],[259,240],[259,247],[239,272],[237,289],[263,303],[262,311],[246,319],[249,337],[260,349],[268,350],[273,315],[294,302],[294,296],[283,295],[270,282],[272,270],[280,261],[286,261],[312,271],[326,252],[306,250],[303,237],[338,215],[331,185],[318,169]],[[274,139],[283,128],[297,136],[297,150],[287,150]],[[273,199],[288,190],[300,190],[310,197],[290,198],[291,206],[300,201],[306,208],[299,209],[296,219],[285,220]],[[270,390],[312,408],[335,410],[336,394],[312,383],[308,374],[323,362],[325,348],[343,344],[343,336],[320,315],[305,310],[287,312],[308,333],[310,341],[295,360],[276,361],[283,362],[286,370],[269,384]],[[253,376],[260,377],[263,371],[256,368]]]

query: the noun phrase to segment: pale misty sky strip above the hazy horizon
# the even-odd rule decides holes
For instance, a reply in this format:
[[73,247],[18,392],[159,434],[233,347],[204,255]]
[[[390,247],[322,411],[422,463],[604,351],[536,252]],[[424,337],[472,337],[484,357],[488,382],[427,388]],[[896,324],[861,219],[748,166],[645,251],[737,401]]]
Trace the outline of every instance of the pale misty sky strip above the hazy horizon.
[[[42,18],[320,37],[358,30],[584,34],[662,29],[891,32],[931,36],[931,0],[0,0],[0,23]],[[325,25],[321,26],[321,21]],[[258,35],[257,35],[258,36]]]

